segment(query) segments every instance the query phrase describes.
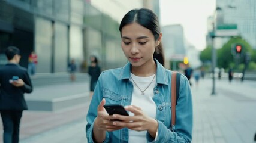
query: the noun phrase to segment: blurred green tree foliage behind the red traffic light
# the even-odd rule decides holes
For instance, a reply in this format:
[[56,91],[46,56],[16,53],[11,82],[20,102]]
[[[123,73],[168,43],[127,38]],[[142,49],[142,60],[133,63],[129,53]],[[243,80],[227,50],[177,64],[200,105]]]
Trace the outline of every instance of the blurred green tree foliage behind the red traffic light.
[[[251,45],[246,42],[244,39],[240,37],[230,38],[230,40],[222,46],[221,49],[218,49],[218,67],[223,67],[224,69],[228,69],[230,66],[234,66],[234,57],[236,55],[234,46],[236,44],[242,45],[242,53],[240,54],[240,63],[245,62],[245,54],[246,52],[253,53]],[[234,55],[233,55],[233,54]],[[238,64],[240,64],[238,63]]]

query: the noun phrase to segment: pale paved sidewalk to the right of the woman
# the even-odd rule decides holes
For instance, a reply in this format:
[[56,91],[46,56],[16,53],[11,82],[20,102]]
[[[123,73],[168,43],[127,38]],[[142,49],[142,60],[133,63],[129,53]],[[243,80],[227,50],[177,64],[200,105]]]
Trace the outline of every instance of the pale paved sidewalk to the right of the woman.
[[194,105],[193,143],[252,143],[256,133],[256,82],[201,80],[192,86]]

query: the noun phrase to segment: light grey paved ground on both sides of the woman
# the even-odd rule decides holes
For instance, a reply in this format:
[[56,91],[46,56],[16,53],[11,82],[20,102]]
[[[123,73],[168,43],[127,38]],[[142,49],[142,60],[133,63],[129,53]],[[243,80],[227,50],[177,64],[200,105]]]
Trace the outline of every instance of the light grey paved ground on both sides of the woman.
[[[89,89],[88,83],[72,84],[74,86],[85,84],[85,87],[77,87],[84,88],[88,93],[86,91]],[[70,86],[70,90],[74,90],[74,86]],[[192,79],[191,90],[194,105],[192,142],[254,142],[256,133],[255,87],[254,81],[241,83],[240,80],[233,80],[229,83],[228,79],[221,79],[216,80],[216,95],[211,95],[211,79],[200,80],[198,85]],[[81,89],[76,90],[81,91]],[[58,111],[24,111],[20,127],[20,142],[87,142],[85,125],[88,106],[89,100],[84,104]],[[2,125],[0,126],[2,129]],[[0,133],[2,134],[2,130]],[[2,141],[2,136],[0,139]]]

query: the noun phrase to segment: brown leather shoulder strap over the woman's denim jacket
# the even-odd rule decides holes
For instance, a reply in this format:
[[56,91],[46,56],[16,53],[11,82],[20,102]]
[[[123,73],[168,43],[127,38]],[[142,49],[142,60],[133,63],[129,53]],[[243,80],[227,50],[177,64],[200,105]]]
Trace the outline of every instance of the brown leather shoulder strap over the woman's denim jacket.
[[171,74],[171,131],[175,129],[176,105],[179,98],[180,73]]

